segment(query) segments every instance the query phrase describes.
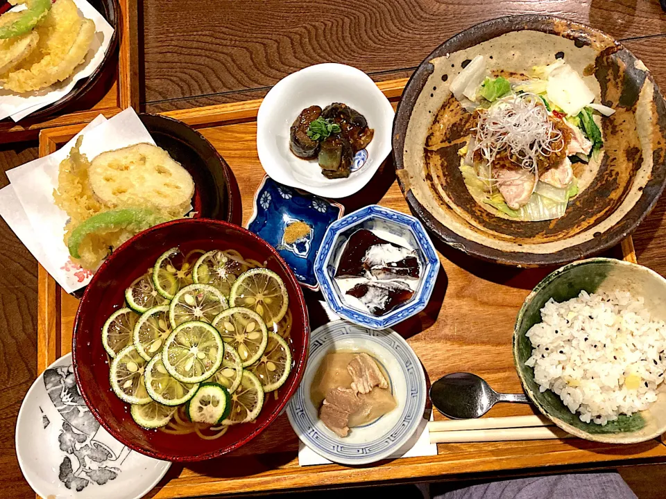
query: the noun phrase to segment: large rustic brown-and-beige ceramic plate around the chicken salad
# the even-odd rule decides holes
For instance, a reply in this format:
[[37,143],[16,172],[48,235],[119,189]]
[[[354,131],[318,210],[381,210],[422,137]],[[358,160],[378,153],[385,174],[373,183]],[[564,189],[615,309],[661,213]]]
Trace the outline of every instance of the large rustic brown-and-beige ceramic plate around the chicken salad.
[[[458,150],[471,114],[450,83],[475,55],[491,70],[524,73],[565,58],[586,75],[596,101],[615,114],[603,120],[604,150],[596,175],[565,216],[544,222],[500,218],[468,192]],[[445,243],[490,261],[553,265],[612,247],[656,203],[666,182],[666,104],[644,64],[597,30],[543,15],[502,17],[454,36],[409,80],[393,128],[398,182],[411,210]]]

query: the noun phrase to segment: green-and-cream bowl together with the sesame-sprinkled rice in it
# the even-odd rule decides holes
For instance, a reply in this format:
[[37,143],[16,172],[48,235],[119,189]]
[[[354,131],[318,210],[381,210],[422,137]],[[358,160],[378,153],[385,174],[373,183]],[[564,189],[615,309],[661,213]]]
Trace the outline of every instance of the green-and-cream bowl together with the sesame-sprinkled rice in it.
[[[599,306],[599,299],[594,299],[598,295],[604,296],[603,306]],[[644,320],[647,315],[635,303],[639,298],[644,300],[642,308],[649,312],[650,322]],[[554,303],[549,304],[551,299]],[[563,304],[572,299],[577,300]],[[631,315],[621,318],[616,314],[625,309]],[[567,317],[571,319],[570,326]],[[622,320],[622,326],[616,336],[615,326],[612,330],[608,328],[617,319]],[[599,326],[599,321],[608,326]],[[513,360],[524,391],[545,416],[576,437],[613,444],[635,444],[656,438],[666,432],[666,383],[660,382],[666,375],[658,374],[666,369],[666,356],[660,351],[664,348],[660,345],[666,345],[665,321],[666,279],[656,272],[605,258],[565,265],[534,288],[516,319]],[[532,329],[541,323],[545,326]],[[637,329],[641,333],[634,336],[631,331]],[[528,332],[538,343],[538,349]],[[602,339],[610,343],[606,347],[613,349],[613,355],[597,354],[594,340]],[[604,349],[599,341],[596,343],[599,350]],[[617,359],[610,360],[615,353]],[[532,367],[535,364],[536,380]],[[634,365],[636,373],[631,374]],[[624,367],[628,367],[626,373]],[[572,373],[573,376],[568,376]],[[620,387],[613,388],[618,373]],[[596,380],[592,380],[594,374]],[[563,398],[547,387],[560,392]],[[577,412],[573,413],[563,399]],[[616,403],[617,410],[613,410]],[[644,410],[631,416],[613,414],[627,407]]]

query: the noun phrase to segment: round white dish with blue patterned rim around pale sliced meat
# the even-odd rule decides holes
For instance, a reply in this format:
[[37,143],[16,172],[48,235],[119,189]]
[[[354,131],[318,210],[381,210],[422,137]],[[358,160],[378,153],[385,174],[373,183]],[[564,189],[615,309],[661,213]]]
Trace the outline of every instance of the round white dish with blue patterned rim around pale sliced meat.
[[[350,428],[340,437],[327,428],[311,402],[311,384],[324,356],[332,351],[368,353],[388,374],[398,406],[372,423]],[[287,405],[287,417],[298,438],[322,457],[349,465],[370,464],[407,451],[425,417],[426,384],[416,353],[391,329],[375,331],[345,321],[324,324],[310,334],[307,367]],[[407,444],[407,445],[406,445]]]

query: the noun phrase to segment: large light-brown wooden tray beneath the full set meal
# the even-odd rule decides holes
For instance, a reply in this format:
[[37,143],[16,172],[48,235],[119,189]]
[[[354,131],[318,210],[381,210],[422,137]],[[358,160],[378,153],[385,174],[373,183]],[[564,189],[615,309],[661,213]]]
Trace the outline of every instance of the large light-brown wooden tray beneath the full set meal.
[[[407,80],[383,82],[384,94],[397,101]],[[257,157],[256,116],[260,100],[164,113],[197,128],[219,150],[238,180],[244,222],[253,210],[253,195],[264,176]],[[82,128],[71,125],[42,131],[40,155],[56,150]],[[347,213],[370,202],[408,212],[390,161],[361,195],[343,200]],[[454,371],[470,371],[493,388],[521,391],[513,367],[511,335],[518,309],[529,291],[552,269],[520,270],[472,259],[440,245],[442,269],[426,310],[395,329],[408,338],[429,380]],[[617,256],[635,261],[627,238]],[[316,300],[314,293],[308,299]],[[62,291],[40,267],[38,368],[43,371],[70,351],[78,300]],[[311,310],[312,312],[312,310]],[[311,315],[314,315],[311,313]],[[319,324],[313,319],[313,328]],[[528,405],[500,404],[488,416],[531,414]],[[436,419],[441,418],[435,414]],[[298,466],[298,439],[282,414],[262,435],[237,453],[211,462],[174,465],[155,488],[155,498],[286,491],[368,482],[447,480],[465,473],[498,475],[506,470],[543,466],[604,467],[637,462],[666,462],[666,446],[658,440],[631,446],[598,444],[579,439],[440,444],[434,457],[386,460],[376,466],[348,468],[336,464]],[[524,472],[521,472],[524,473]]]

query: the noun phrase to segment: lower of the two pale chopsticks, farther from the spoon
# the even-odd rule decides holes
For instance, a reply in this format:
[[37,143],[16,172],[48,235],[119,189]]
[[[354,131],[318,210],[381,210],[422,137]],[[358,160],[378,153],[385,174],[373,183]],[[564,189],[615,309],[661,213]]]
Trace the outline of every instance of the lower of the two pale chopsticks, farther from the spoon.
[[573,437],[555,426],[532,428],[501,428],[492,430],[457,430],[430,432],[431,444],[452,444],[475,441],[506,441],[506,440],[548,440]]

